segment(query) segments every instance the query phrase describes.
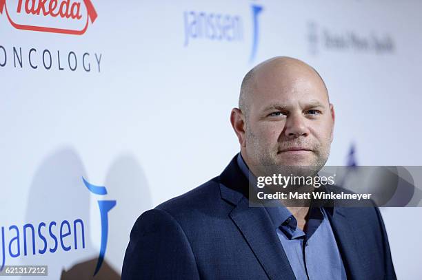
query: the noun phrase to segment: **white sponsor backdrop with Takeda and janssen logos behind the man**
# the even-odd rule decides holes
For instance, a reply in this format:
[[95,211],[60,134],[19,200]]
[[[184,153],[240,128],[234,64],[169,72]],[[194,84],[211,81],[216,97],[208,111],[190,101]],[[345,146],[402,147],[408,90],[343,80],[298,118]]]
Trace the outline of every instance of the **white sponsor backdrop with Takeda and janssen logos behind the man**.
[[[324,78],[336,109],[328,164],[421,165],[421,9],[0,0],[0,267],[119,279],[137,217],[239,151],[230,110],[245,73],[272,56]],[[422,235],[421,209],[382,209],[399,279],[422,276],[422,241],[400,226]]]

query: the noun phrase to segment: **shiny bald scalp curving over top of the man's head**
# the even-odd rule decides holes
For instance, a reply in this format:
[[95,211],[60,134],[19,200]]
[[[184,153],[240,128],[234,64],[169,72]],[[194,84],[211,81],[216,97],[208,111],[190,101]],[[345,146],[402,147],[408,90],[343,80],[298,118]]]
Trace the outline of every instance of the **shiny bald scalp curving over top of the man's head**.
[[[327,101],[330,103],[328,89],[323,79],[310,65],[288,56],[276,56],[263,61],[263,63],[253,67],[243,78],[239,95],[239,109],[245,116],[248,116],[252,96],[258,95],[259,88],[265,88],[265,84],[272,83],[274,80],[290,83],[306,79],[320,83],[324,87]],[[254,97],[259,98],[259,96]]]

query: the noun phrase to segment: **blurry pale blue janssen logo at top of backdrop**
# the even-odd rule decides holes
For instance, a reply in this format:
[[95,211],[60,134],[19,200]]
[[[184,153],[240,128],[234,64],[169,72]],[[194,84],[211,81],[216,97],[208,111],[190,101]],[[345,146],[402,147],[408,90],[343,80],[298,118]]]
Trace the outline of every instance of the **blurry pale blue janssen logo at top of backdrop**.
[[[254,61],[259,43],[259,14],[263,7],[252,4],[251,26],[252,43],[250,48],[250,62]],[[243,18],[239,14],[221,12],[185,11],[183,12],[185,31],[184,46],[192,41],[208,40],[236,43],[243,41]]]

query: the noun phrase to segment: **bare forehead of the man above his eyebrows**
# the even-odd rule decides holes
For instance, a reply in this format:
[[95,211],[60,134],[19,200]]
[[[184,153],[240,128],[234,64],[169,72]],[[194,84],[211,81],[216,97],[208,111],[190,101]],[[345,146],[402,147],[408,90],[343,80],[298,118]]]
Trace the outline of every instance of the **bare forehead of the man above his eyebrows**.
[[259,69],[252,81],[251,109],[277,103],[328,105],[328,93],[318,74],[308,65],[270,65]]

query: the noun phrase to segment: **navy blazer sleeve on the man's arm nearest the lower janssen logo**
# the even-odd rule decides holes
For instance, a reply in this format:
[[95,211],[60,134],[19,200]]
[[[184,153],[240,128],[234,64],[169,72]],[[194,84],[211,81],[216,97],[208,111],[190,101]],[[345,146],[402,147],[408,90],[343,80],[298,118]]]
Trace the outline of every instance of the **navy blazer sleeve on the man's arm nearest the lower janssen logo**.
[[172,215],[152,209],[137,219],[121,279],[199,279],[192,248]]

